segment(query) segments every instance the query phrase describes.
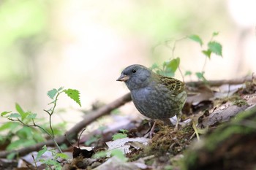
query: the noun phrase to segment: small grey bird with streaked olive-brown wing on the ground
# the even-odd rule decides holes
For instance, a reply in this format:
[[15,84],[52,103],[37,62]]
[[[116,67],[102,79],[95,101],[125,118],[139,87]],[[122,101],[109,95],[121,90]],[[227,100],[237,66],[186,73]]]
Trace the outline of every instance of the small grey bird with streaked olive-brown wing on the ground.
[[187,100],[184,82],[162,76],[139,64],[127,66],[116,81],[125,82],[142,115],[153,120],[168,120],[169,123],[170,117],[177,115],[175,130],[178,129],[181,109]]

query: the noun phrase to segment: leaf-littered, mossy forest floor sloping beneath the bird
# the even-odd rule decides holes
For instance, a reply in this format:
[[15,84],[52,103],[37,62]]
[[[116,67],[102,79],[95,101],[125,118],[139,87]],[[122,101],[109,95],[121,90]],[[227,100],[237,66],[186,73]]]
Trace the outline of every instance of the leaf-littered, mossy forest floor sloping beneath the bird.
[[[192,95],[182,111],[178,131],[155,120],[150,138],[154,120],[124,117],[118,125],[79,136],[86,125],[113,116],[111,111],[129,102],[127,94],[96,109],[66,136],[56,138],[59,144],[69,145],[64,150],[69,158],[54,160],[52,152],[45,152],[45,159],[55,163],[35,161],[43,145],[53,146],[49,140],[15,150],[20,156],[11,161],[4,158],[10,152],[0,151],[0,169],[256,169],[256,80],[189,82],[187,88]],[[70,134],[75,134],[68,140],[75,140],[72,146],[67,142]]]

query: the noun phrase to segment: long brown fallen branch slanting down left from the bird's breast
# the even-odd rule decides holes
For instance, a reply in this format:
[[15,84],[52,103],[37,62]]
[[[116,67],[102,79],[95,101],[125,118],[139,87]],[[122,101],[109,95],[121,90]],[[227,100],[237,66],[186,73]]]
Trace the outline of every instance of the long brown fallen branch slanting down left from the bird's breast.
[[[69,131],[67,131],[65,133],[65,135],[67,137],[66,136],[56,137],[56,142],[58,144],[63,144],[63,143],[68,144],[67,139],[69,141],[71,141],[72,139],[77,139],[78,133],[83,128],[85,128],[87,125],[94,122],[94,120],[97,120],[97,118],[99,118],[99,117],[102,117],[104,115],[108,115],[111,111],[113,111],[113,109],[121,107],[122,105],[126,104],[127,102],[129,102],[131,100],[132,100],[132,98],[130,96],[130,93],[127,93],[126,95],[121,96],[120,98],[116,99],[115,101],[111,102],[110,104],[107,104],[104,107],[101,107],[101,108],[97,109],[96,111],[89,113],[88,116],[85,119],[83,119],[82,121],[80,121],[79,123],[74,125],[72,128],[69,129]],[[46,142],[41,142],[41,143],[38,143],[38,144],[34,144],[30,147],[23,147],[23,148],[20,148],[18,150],[12,150],[12,151],[1,151],[0,152],[0,158],[6,158],[7,155],[9,155],[12,152],[15,152],[19,156],[23,156],[23,155],[26,155],[30,152],[35,151],[35,150],[42,149],[42,147],[44,145],[53,146],[54,143],[53,143],[52,140],[49,139]]]

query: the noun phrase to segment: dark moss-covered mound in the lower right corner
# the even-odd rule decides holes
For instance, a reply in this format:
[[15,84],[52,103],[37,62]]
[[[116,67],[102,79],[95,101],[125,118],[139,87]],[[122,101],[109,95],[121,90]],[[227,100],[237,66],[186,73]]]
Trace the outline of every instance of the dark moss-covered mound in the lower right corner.
[[[187,150],[187,152],[185,152],[184,154],[184,159],[182,160],[181,169],[205,169],[206,160],[204,159],[206,158],[206,156],[208,156],[209,158],[211,156],[215,156],[215,158],[218,157],[220,161],[225,161],[226,159],[229,159],[229,161],[236,161],[236,159],[239,158],[237,157],[239,155],[233,155],[232,158],[226,158],[225,153],[227,150],[230,149],[230,147],[236,149],[241,148],[239,147],[239,144],[243,144],[244,141],[241,140],[240,143],[236,143],[238,147],[236,147],[236,145],[233,145],[233,143],[230,143],[230,141],[232,141],[234,137],[236,139],[236,137],[238,136],[240,136],[240,138],[244,140],[252,138],[252,135],[255,134],[255,122],[256,107],[249,111],[241,112],[230,123],[221,125],[211,134],[206,135],[205,139],[201,141],[201,144],[197,142],[197,145],[194,145],[192,149]],[[252,140],[251,142],[253,144],[254,140]],[[209,163],[210,164],[208,164],[208,166],[213,166],[213,164],[217,162],[209,161]]]

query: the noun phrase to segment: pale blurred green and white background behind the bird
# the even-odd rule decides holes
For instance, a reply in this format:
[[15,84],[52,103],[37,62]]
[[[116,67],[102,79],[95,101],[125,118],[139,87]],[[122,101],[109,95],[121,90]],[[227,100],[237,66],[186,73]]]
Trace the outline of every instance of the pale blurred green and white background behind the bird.
[[[165,41],[190,34],[208,42],[219,32],[223,58],[207,61],[208,80],[245,76],[255,72],[254,11],[252,0],[3,0],[0,112],[15,111],[18,102],[40,114],[48,107],[47,91],[61,86],[80,90],[84,108],[98,99],[108,103],[128,91],[116,82],[121,69],[167,61],[172,51]],[[200,51],[188,39],[176,43],[183,73],[200,72]],[[73,107],[66,99],[59,107]]]

